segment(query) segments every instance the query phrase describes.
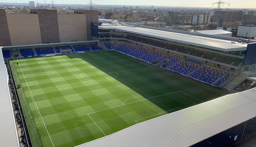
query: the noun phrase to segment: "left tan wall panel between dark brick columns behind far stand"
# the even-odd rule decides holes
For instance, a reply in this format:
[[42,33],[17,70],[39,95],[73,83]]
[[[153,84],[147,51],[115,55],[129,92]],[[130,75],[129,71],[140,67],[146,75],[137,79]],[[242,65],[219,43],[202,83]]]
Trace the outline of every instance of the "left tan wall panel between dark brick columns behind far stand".
[[12,45],[41,44],[38,14],[6,14]]

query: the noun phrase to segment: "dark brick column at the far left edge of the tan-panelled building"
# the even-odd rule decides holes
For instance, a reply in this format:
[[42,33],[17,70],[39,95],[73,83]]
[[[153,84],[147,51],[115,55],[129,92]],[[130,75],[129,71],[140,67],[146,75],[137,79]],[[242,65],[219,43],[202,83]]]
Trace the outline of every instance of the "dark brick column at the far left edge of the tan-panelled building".
[[11,46],[11,38],[6,19],[5,9],[0,9],[0,46]]

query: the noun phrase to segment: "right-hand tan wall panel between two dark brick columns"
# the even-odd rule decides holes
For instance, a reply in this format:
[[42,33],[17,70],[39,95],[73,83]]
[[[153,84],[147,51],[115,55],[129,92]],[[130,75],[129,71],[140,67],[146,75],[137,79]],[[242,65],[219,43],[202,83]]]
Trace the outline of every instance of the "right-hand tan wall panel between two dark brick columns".
[[60,42],[86,41],[85,14],[57,14]]

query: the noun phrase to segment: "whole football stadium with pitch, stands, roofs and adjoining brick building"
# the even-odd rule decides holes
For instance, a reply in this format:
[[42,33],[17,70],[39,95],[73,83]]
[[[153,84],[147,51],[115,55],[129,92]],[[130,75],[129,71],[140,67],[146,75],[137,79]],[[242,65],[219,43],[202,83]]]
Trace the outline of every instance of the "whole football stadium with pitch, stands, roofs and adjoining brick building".
[[255,40],[30,12],[0,9],[3,146],[229,147],[256,135]]

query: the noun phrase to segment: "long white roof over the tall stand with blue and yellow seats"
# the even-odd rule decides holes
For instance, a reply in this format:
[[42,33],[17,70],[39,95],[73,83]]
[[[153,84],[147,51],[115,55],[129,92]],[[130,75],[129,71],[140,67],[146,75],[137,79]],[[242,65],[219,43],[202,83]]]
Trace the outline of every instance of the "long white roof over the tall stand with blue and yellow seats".
[[[221,50],[221,51],[235,51],[235,50],[247,50],[247,45],[241,43],[231,43],[231,40],[216,39],[214,36],[204,37],[198,36],[198,33],[182,34],[164,30],[149,29],[142,27],[127,27],[127,26],[99,26],[99,29],[117,29],[124,32],[134,33],[138,35],[144,35],[149,37],[155,37],[159,39],[169,40],[177,43],[185,43],[195,46],[201,46],[209,49]],[[228,38],[228,37],[226,37]]]

